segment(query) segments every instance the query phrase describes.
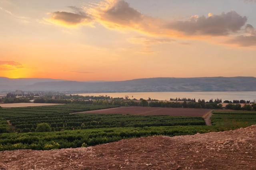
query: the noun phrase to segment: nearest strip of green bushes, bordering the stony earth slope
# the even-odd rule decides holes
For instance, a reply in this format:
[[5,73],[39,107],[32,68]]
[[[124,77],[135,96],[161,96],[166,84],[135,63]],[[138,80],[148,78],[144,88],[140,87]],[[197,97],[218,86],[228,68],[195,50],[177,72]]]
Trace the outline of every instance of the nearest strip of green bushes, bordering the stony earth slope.
[[218,126],[173,126],[136,128],[117,127],[47,133],[4,133],[0,134],[0,150],[50,150],[87,147],[128,138],[153,135],[194,135],[196,133],[207,133],[230,129],[232,128]]

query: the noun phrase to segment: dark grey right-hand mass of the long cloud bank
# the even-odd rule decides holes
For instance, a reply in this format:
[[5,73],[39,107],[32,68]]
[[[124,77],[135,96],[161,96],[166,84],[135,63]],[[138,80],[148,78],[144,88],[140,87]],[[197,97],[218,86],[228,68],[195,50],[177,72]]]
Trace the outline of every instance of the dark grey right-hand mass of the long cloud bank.
[[168,28],[186,33],[187,35],[228,35],[240,31],[247,18],[235,11],[220,15],[192,16],[188,21],[175,21]]

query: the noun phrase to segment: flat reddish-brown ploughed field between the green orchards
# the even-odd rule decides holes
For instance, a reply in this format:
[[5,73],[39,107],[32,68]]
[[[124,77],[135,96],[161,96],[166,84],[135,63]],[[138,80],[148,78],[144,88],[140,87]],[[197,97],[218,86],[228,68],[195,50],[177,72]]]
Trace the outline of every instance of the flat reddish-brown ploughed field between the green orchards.
[[94,111],[84,111],[80,113],[98,114],[131,114],[131,115],[172,115],[172,116],[193,116],[201,117],[211,111],[210,109],[193,108],[166,108],[166,107],[117,107],[112,109],[102,109]]

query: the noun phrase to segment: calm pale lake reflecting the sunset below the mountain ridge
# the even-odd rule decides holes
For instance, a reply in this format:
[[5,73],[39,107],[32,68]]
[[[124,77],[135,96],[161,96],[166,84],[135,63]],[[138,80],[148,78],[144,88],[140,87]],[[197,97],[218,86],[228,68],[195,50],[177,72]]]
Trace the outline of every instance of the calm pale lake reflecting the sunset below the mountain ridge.
[[[157,99],[170,100],[170,98],[196,98],[205,99],[222,99],[224,100],[256,100],[256,92],[128,92],[128,93],[86,93],[80,96],[110,96],[113,98],[124,98],[129,96],[130,99]],[[133,97],[132,97],[133,96]]]

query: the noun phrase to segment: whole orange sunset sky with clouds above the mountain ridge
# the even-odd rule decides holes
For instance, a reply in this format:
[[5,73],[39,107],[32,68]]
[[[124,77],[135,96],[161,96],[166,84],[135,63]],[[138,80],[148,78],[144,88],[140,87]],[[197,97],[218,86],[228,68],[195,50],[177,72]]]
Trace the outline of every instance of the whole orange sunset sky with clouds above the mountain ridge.
[[256,77],[256,0],[0,0],[0,76]]

